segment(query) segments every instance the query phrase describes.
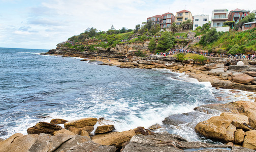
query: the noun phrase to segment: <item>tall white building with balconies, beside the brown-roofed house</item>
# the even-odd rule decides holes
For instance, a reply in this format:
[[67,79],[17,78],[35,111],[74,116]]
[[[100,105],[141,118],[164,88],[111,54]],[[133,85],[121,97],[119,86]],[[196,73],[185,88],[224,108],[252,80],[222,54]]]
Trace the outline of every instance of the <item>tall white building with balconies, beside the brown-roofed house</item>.
[[223,23],[228,21],[227,9],[215,9],[212,11],[211,27],[221,27]]

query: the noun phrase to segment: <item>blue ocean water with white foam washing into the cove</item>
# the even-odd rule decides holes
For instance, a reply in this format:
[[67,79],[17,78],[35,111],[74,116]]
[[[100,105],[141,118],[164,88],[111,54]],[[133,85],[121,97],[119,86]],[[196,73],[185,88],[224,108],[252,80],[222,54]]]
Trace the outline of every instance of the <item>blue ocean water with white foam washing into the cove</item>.
[[[0,48],[0,138],[53,118],[104,117],[117,131],[146,128],[199,105],[238,100],[227,89],[167,69],[118,68],[41,52],[47,50]],[[201,140],[191,124],[158,131]]]

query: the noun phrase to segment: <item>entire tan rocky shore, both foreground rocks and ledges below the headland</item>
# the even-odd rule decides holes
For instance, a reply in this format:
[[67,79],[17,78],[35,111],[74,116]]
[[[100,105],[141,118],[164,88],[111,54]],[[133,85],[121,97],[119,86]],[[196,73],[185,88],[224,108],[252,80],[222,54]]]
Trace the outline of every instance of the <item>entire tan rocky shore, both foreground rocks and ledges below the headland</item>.
[[[185,72],[201,82],[210,82],[213,87],[256,92],[256,68],[253,62],[242,61],[243,65],[237,65],[239,60],[223,58],[208,58],[205,63],[194,60],[181,62],[171,56],[125,58],[67,50],[50,50],[47,54],[99,60],[103,62],[102,65],[117,65],[120,68],[166,68]],[[248,98],[254,97],[248,95]],[[205,118],[205,121],[193,126],[195,131],[223,144],[190,142],[179,135],[156,133],[154,130],[161,128],[158,124],[148,129],[137,127],[117,132],[115,126],[104,118],[84,118],[38,122],[27,129],[28,135],[16,133],[0,141],[0,151],[254,151],[255,107],[256,103],[249,101],[202,105],[195,107],[192,112],[172,115],[163,120],[165,125],[179,126],[196,121],[198,117]],[[220,115],[210,118],[208,114],[211,113]]]

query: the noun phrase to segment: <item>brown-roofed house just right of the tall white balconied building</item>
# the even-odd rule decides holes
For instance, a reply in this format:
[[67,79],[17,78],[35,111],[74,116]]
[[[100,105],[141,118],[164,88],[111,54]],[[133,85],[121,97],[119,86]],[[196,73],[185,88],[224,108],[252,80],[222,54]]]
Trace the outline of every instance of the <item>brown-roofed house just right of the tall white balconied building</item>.
[[250,11],[235,9],[230,11],[228,15],[228,21],[235,21],[235,24],[241,21],[246,15],[249,15]]

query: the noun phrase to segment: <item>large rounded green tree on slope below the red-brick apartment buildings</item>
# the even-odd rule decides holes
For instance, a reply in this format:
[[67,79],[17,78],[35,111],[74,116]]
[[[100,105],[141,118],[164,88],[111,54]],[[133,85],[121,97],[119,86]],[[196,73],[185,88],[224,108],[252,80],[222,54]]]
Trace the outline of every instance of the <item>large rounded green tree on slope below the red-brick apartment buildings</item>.
[[156,46],[157,52],[166,52],[168,49],[172,48],[174,45],[174,37],[169,31],[165,31],[158,40]]

